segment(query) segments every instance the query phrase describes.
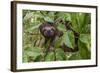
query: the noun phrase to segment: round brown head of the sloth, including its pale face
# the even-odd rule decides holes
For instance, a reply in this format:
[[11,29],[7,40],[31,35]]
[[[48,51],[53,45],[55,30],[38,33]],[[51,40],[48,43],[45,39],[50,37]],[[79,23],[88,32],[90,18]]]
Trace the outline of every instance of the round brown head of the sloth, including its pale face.
[[40,32],[44,37],[51,38],[56,35],[56,28],[53,26],[53,23],[45,22],[40,25]]

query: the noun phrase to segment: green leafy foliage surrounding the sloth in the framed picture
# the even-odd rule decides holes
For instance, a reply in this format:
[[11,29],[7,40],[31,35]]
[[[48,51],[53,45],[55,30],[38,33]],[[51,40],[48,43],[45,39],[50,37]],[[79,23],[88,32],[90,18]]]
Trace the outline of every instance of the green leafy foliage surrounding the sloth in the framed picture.
[[23,62],[39,62],[43,61],[44,37],[39,31],[39,26],[44,22],[55,22],[57,18],[62,18],[63,21],[71,21],[72,28],[80,34],[78,40],[78,52],[64,52],[59,45],[63,42],[73,48],[74,35],[71,31],[66,31],[63,23],[56,23],[57,28],[64,32],[64,35],[57,38],[54,44],[56,55],[50,52],[46,56],[45,61],[56,60],[82,60],[91,58],[91,15],[89,13],[81,12],[53,12],[53,11],[35,11],[23,10]]

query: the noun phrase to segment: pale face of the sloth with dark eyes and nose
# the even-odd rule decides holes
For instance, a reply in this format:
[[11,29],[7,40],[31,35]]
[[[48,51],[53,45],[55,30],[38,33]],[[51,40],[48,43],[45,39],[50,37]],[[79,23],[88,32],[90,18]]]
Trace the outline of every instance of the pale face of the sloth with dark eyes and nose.
[[43,32],[46,37],[54,37],[56,29],[53,26],[45,26]]

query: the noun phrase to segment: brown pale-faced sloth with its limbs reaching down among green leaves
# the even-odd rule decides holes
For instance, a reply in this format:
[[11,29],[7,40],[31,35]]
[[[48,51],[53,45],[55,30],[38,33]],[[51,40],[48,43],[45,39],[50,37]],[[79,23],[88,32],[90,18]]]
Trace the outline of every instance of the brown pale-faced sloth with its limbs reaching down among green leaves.
[[56,53],[54,50],[54,44],[55,44],[55,39],[56,37],[61,37],[63,35],[63,32],[58,30],[55,26],[54,23],[50,23],[50,22],[44,22],[39,26],[40,32],[41,34],[44,36],[45,38],[45,43],[44,45],[46,45],[49,42],[49,45],[45,51],[45,55],[44,55],[44,61],[45,58],[47,56],[47,54],[50,51],[53,51],[55,54],[55,60],[56,60]]

